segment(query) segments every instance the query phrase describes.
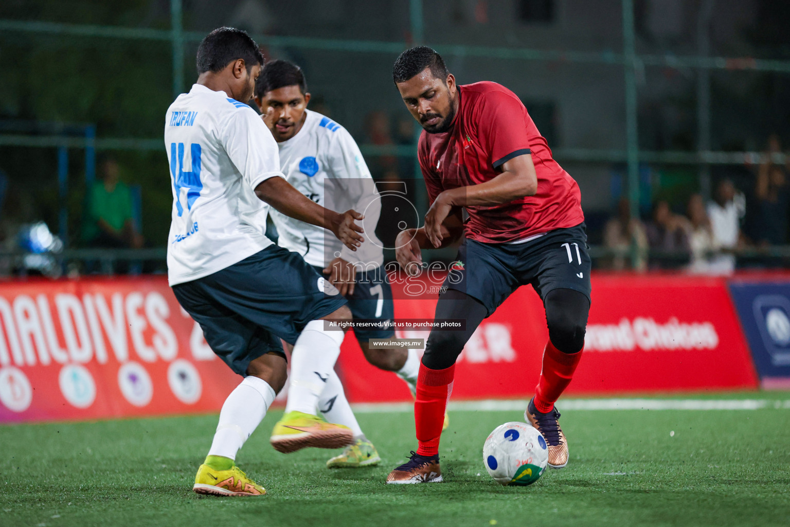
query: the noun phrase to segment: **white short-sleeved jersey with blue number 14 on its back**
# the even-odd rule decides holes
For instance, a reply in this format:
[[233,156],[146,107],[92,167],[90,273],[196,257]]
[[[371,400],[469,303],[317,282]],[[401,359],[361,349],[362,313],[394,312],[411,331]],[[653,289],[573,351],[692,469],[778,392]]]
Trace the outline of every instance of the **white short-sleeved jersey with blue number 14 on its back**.
[[251,107],[193,85],[167,109],[164,146],[173,192],[171,285],[216,273],[272,245],[264,235],[269,207],[254,188],[282,173],[276,142]]

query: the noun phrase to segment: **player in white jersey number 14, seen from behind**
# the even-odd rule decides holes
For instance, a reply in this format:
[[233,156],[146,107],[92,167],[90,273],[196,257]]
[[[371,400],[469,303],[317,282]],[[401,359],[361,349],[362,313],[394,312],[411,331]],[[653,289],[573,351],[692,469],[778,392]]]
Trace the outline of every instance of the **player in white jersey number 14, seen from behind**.
[[[194,491],[263,495],[235,465],[246,439],[285,383],[280,338],[294,344],[292,378],[329,375],[343,333],[325,318],[348,320],[337,289],[299,254],[264,235],[269,206],[328,228],[352,250],[364,241],[355,211],[338,214],[305,198],[283,178],[276,143],[247,106],[263,57],[243,31],[219,28],[198,47],[198,82],[167,109],[164,143],[173,209],[167,275],[181,306],[203,329],[217,356],[244,377],[225,401]],[[310,356],[306,349],[320,350]],[[318,404],[320,393],[303,399]],[[348,445],[348,427],[304,414],[293,420],[287,448]]]

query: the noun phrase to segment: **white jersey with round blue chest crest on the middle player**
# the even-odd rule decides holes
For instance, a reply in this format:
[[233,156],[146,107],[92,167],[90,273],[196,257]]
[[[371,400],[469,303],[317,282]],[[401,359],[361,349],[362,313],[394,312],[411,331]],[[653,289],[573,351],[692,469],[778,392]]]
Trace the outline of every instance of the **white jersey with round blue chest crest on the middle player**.
[[272,210],[280,235],[277,243],[302,254],[310,265],[325,267],[340,256],[356,264],[357,270],[374,269],[382,265],[384,254],[374,232],[382,205],[371,172],[348,130],[315,111],[305,112],[301,130],[277,143],[285,179],[327,209],[363,213],[364,220],[357,223],[365,230],[365,241],[353,251],[326,229]]

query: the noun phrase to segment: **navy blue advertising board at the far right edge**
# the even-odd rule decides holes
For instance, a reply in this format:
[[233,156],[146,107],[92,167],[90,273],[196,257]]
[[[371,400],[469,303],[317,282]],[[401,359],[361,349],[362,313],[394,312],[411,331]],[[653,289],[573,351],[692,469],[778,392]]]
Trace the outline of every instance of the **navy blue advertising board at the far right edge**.
[[790,279],[732,280],[730,292],[762,386],[790,389]]

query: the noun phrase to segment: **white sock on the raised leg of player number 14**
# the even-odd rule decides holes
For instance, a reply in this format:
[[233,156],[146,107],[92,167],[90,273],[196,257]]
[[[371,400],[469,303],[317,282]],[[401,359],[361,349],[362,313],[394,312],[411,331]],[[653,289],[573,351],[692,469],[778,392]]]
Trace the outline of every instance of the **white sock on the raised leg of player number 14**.
[[316,415],[318,397],[333,374],[342,331],[325,331],[324,321],[307,322],[291,353],[291,378],[288,382],[288,403],[285,412]]

